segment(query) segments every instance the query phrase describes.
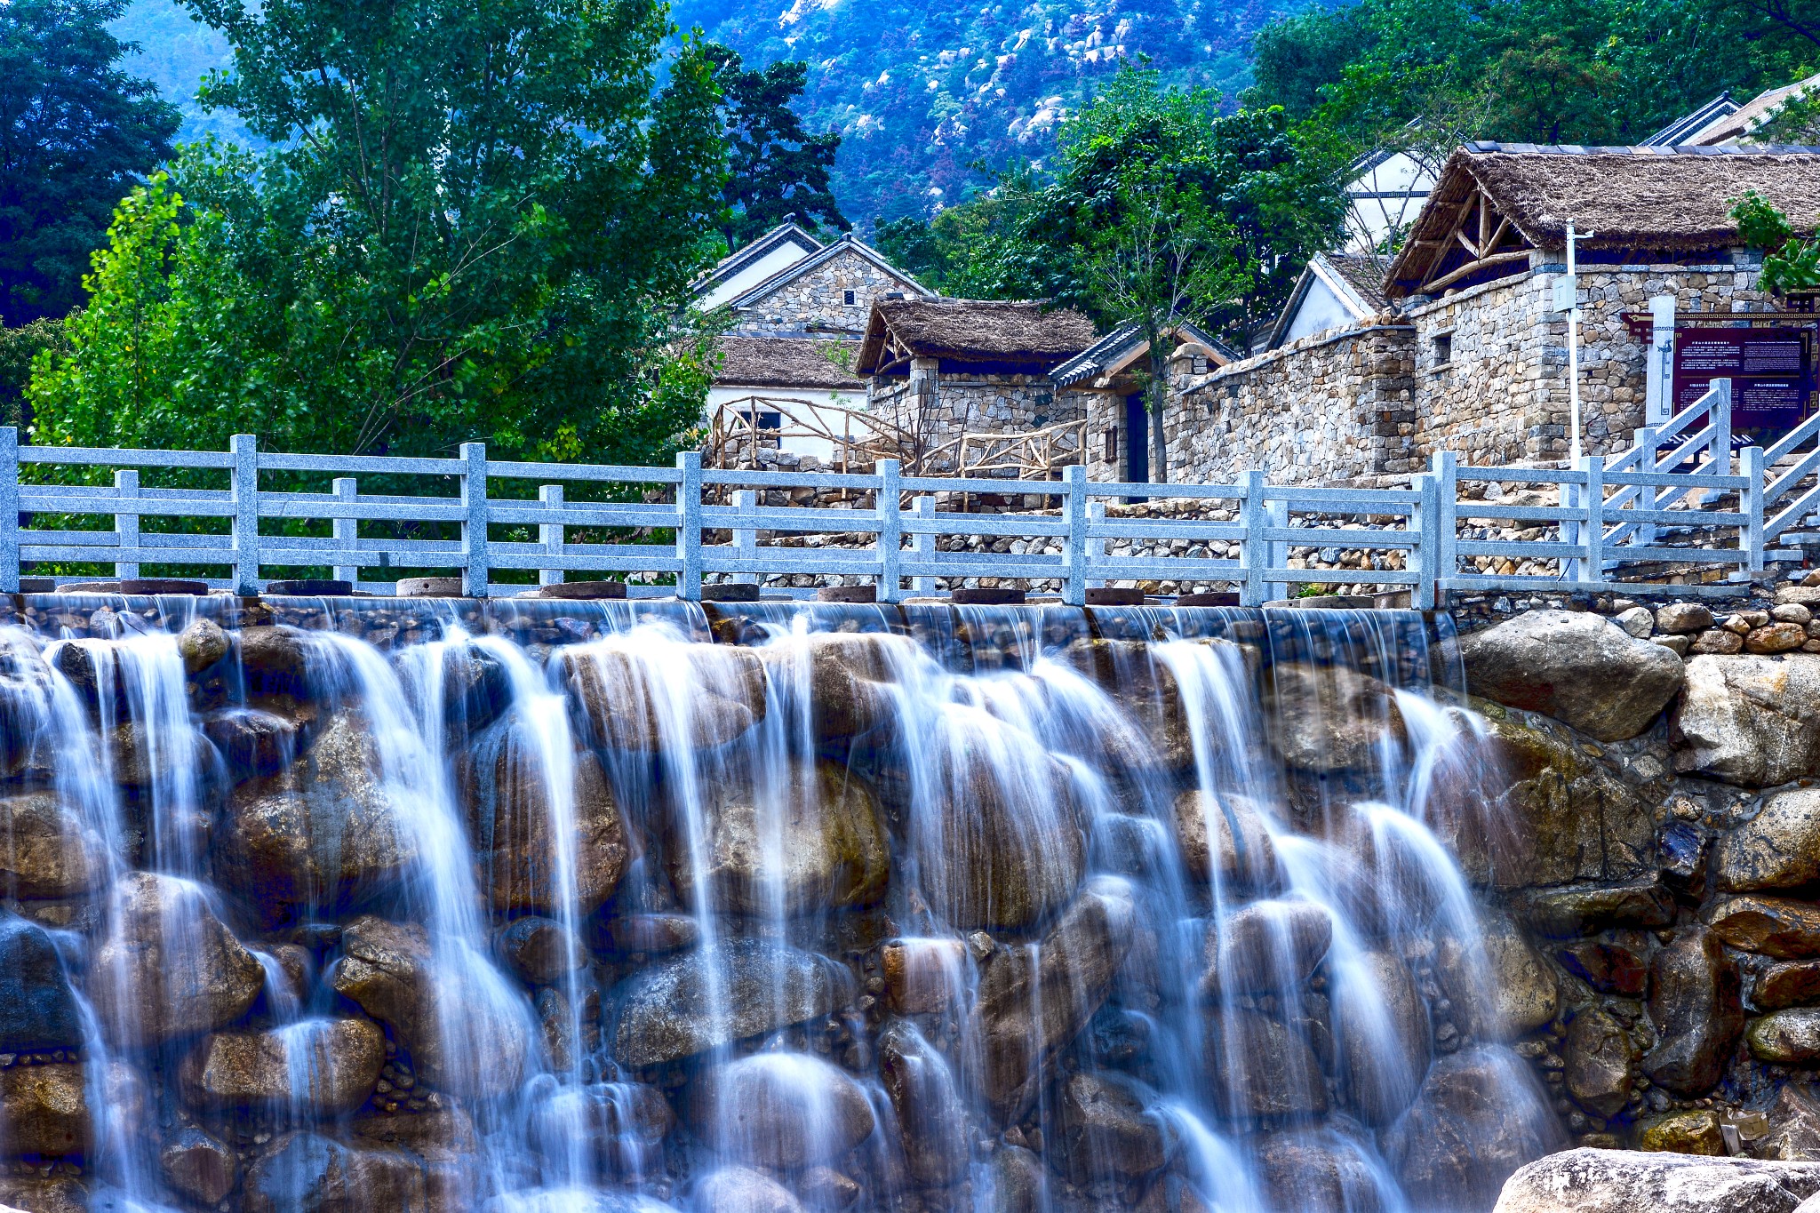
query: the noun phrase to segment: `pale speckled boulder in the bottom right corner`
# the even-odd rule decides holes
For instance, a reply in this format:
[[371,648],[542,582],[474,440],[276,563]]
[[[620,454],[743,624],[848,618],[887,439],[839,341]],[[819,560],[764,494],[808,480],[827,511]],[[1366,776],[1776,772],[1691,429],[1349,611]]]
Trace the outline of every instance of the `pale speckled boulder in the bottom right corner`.
[[1820,1162],[1569,1149],[1531,1162],[1494,1213],[1795,1213]]

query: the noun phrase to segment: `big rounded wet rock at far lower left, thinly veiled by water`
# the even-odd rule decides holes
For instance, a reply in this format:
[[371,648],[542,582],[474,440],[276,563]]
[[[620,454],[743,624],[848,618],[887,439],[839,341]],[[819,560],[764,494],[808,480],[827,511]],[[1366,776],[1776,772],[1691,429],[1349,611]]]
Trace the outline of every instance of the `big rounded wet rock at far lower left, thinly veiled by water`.
[[87,989],[116,1040],[162,1044],[226,1028],[264,986],[266,969],[198,886],[146,871],[115,886],[113,927]]

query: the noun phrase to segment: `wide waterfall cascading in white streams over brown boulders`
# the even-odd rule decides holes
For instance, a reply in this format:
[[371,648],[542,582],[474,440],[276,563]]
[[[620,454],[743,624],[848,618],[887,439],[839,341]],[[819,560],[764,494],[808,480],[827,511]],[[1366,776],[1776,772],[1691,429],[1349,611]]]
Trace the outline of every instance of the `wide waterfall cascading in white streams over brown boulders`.
[[1554,1146],[1418,615],[33,602],[4,1204],[1465,1211]]

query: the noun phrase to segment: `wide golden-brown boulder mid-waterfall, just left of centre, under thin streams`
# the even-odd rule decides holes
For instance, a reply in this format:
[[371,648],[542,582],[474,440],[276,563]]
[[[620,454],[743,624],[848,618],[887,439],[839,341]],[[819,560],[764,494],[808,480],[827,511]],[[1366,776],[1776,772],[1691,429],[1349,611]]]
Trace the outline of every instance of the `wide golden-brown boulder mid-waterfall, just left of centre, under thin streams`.
[[[706,878],[712,906],[739,915],[788,915],[870,906],[890,880],[890,838],[872,791],[844,766],[794,764],[775,795],[755,780],[704,789],[697,873],[686,838],[670,847],[670,873],[686,904]],[[763,804],[761,804],[763,800]],[[677,831],[686,829],[682,824]]]

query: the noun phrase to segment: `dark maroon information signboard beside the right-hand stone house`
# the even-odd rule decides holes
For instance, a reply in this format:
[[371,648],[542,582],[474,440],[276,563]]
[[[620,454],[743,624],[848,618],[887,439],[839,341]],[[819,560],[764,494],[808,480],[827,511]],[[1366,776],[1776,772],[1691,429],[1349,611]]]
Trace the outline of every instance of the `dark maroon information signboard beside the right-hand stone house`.
[[1674,411],[1704,396],[1714,378],[1731,380],[1733,429],[1793,429],[1805,416],[1815,389],[1805,335],[1802,329],[1676,329]]

